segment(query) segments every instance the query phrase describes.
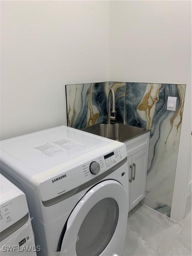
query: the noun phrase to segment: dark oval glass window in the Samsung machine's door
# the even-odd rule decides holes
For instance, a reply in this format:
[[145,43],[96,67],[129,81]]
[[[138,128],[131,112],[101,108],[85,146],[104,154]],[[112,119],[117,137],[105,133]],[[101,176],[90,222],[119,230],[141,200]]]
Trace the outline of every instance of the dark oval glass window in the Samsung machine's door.
[[115,199],[107,197],[96,203],[87,213],[78,232],[78,256],[100,255],[109,244],[119,218]]

